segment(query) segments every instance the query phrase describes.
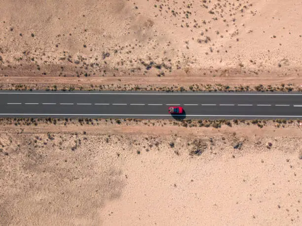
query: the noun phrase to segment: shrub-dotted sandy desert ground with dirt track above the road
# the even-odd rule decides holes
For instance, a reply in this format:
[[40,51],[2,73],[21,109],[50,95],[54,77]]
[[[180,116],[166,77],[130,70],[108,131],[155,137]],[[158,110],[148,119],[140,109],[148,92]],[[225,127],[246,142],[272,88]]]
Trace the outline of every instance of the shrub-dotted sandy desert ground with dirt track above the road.
[[297,0],[2,0],[0,87],[299,85],[301,12]]

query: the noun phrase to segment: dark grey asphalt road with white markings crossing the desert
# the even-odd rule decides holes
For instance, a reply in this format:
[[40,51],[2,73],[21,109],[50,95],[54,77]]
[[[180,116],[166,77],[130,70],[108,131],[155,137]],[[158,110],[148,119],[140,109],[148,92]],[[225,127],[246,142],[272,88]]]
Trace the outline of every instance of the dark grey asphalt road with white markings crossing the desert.
[[182,106],[182,118],[302,118],[301,93],[6,92],[2,118],[172,118],[168,106]]

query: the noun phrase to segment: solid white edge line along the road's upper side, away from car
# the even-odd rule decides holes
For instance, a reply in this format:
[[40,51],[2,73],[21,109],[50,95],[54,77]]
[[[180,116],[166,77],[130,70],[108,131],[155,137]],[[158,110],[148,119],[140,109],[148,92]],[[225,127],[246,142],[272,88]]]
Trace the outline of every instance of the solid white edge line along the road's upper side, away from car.
[[30,95],[30,94],[35,94],[35,95],[226,95],[226,96],[230,96],[230,95],[258,95],[258,96],[302,96],[302,94],[242,94],[242,93],[17,93],[17,92],[7,92],[7,93],[3,93],[1,92],[0,94],[21,94],[21,95]]

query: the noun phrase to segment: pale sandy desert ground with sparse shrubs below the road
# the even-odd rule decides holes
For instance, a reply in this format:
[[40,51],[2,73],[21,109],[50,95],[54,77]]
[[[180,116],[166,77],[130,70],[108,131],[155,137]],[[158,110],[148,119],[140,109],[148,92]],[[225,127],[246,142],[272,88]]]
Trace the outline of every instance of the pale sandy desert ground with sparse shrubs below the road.
[[297,123],[171,124],[2,124],[0,225],[301,225]]

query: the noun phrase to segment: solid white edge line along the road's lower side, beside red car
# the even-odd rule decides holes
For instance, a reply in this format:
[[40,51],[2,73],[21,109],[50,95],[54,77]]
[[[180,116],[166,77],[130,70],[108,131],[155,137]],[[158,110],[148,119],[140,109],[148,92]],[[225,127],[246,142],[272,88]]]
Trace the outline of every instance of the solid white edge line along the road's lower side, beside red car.
[[[26,114],[26,113],[0,113],[0,115],[33,115],[33,116],[171,116],[170,114],[166,115],[131,115],[131,114]],[[181,115],[175,115],[181,116]],[[290,117],[290,118],[302,118],[302,115],[186,115],[191,117]]]

